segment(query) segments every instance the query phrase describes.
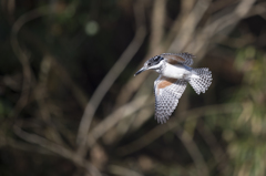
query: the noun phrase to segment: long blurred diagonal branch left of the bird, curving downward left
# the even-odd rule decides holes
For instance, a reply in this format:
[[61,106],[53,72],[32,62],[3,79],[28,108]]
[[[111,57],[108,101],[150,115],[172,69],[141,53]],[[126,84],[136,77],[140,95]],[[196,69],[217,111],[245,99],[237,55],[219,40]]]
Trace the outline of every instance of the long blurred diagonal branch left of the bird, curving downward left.
[[[134,9],[135,9],[135,15],[136,18],[139,18],[140,13],[142,13],[142,10],[141,10],[142,8],[135,7]],[[93,93],[81,117],[78,137],[76,137],[76,142],[80,146],[79,151],[82,148],[83,149],[85,148],[86,135],[90,130],[91,121],[95,114],[95,111],[99,104],[101,103],[102,99],[104,97],[109,89],[112,86],[114,81],[117,79],[117,76],[127,65],[127,63],[137,52],[137,50],[140,49],[140,46],[144,41],[145,35],[146,35],[146,30],[144,24],[139,25],[132,42],[129,44],[126,50],[122,53],[121,58],[116,61],[116,63],[109,71],[109,73],[105,75],[105,77],[102,80],[102,82],[99,84],[95,92]]]

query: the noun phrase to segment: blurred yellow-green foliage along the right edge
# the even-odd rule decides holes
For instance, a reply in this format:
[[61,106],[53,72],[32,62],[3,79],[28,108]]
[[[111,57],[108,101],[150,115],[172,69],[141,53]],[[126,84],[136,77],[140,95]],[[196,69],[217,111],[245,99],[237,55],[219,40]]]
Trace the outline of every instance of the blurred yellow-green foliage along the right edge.
[[239,103],[242,113],[223,116],[225,123],[216,125],[228,143],[233,175],[263,176],[266,167],[266,55],[253,46],[244,48],[237,52],[235,65],[243,73],[243,81],[231,103]]

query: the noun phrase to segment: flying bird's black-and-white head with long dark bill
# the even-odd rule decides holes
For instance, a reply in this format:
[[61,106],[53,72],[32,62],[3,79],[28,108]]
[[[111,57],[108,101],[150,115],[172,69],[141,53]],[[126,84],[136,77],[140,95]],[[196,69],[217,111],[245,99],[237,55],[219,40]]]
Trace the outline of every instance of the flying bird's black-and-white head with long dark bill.
[[144,72],[146,70],[154,70],[160,73],[163,68],[163,63],[164,63],[163,56],[161,56],[161,55],[153,56],[144,63],[144,66],[141,70],[139,70],[134,74],[134,76],[136,76],[137,74],[140,74],[141,72]]

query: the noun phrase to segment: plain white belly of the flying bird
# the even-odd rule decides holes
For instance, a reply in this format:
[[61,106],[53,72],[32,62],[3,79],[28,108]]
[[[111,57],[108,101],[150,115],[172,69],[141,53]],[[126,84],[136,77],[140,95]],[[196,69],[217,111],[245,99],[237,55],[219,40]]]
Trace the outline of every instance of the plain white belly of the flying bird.
[[188,70],[186,70],[185,68],[167,65],[162,74],[163,74],[163,76],[166,76],[166,77],[184,79],[191,72]]

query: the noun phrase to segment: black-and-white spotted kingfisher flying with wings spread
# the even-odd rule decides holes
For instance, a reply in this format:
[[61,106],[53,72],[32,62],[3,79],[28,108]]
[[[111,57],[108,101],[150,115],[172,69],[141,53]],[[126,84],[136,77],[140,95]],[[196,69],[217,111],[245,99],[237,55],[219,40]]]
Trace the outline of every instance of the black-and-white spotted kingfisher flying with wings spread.
[[149,59],[134,76],[146,70],[154,70],[160,75],[154,81],[155,120],[166,123],[178,104],[187,83],[200,95],[212,84],[212,72],[208,68],[193,69],[195,56],[191,53],[163,53]]

